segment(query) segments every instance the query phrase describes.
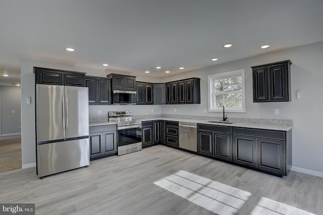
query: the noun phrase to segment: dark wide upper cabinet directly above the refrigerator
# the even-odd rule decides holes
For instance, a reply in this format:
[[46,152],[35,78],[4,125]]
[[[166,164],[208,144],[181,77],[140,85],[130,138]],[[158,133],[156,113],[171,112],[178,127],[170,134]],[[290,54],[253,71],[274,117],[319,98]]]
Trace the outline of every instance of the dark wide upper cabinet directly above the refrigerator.
[[34,67],[36,84],[85,87],[85,73]]

